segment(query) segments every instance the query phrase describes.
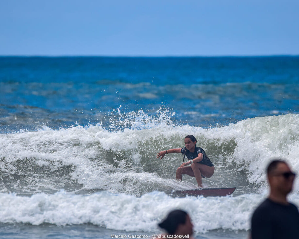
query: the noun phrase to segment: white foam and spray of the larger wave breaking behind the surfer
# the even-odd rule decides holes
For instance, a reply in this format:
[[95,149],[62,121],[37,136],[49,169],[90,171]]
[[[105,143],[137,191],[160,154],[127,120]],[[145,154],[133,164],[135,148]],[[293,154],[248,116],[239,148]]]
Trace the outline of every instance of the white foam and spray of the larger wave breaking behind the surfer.
[[[18,173],[18,160],[29,158],[50,171],[74,166],[73,180],[86,189],[134,195],[147,190],[181,189],[187,184],[174,181],[172,176],[180,156],[169,154],[165,160],[156,160],[155,154],[182,147],[184,136],[194,134],[202,148],[214,149],[211,158],[219,169],[224,161],[228,162],[235,170],[245,170],[250,183],[265,182],[265,168],[272,157],[286,158],[299,171],[299,115],[257,117],[209,129],[173,125],[168,121],[169,115],[169,111],[162,111],[160,117],[165,120],[155,121],[144,113],[132,114],[132,128],[116,132],[101,125],[78,125],[1,134],[0,168],[6,173]],[[225,144],[228,150],[222,149]],[[298,186],[296,178],[295,191]]]

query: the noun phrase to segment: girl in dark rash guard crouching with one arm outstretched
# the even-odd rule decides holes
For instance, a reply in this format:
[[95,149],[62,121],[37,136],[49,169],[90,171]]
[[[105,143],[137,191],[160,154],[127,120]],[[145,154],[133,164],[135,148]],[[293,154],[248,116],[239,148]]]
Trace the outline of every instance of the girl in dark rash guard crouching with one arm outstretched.
[[[196,178],[196,182],[200,188],[202,188],[202,177],[212,177],[214,174],[214,165],[207,157],[205,151],[202,148],[196,147],[196,138],[189,134],[185,137],[185,147],[184,148],[172,148],[164,151],[160,151],[157,154],[157,158],[161,159],[165,154],[171,153],[181,153],[184,154],[184,159],[187,157],[188,162],[181,164],[176,170],[176,180],[182,180],[182,175],[187,174],[191,177]],[[187,165],[191,167],[185,167]]]

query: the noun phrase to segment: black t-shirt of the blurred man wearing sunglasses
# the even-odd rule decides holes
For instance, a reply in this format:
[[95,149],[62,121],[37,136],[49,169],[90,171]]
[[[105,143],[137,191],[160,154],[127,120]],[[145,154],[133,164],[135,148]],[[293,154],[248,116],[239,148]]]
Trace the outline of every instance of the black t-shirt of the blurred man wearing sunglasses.
[[283,205],[267,198],[251,218],[252,239],[298,239],[299,212],[289,203]]

